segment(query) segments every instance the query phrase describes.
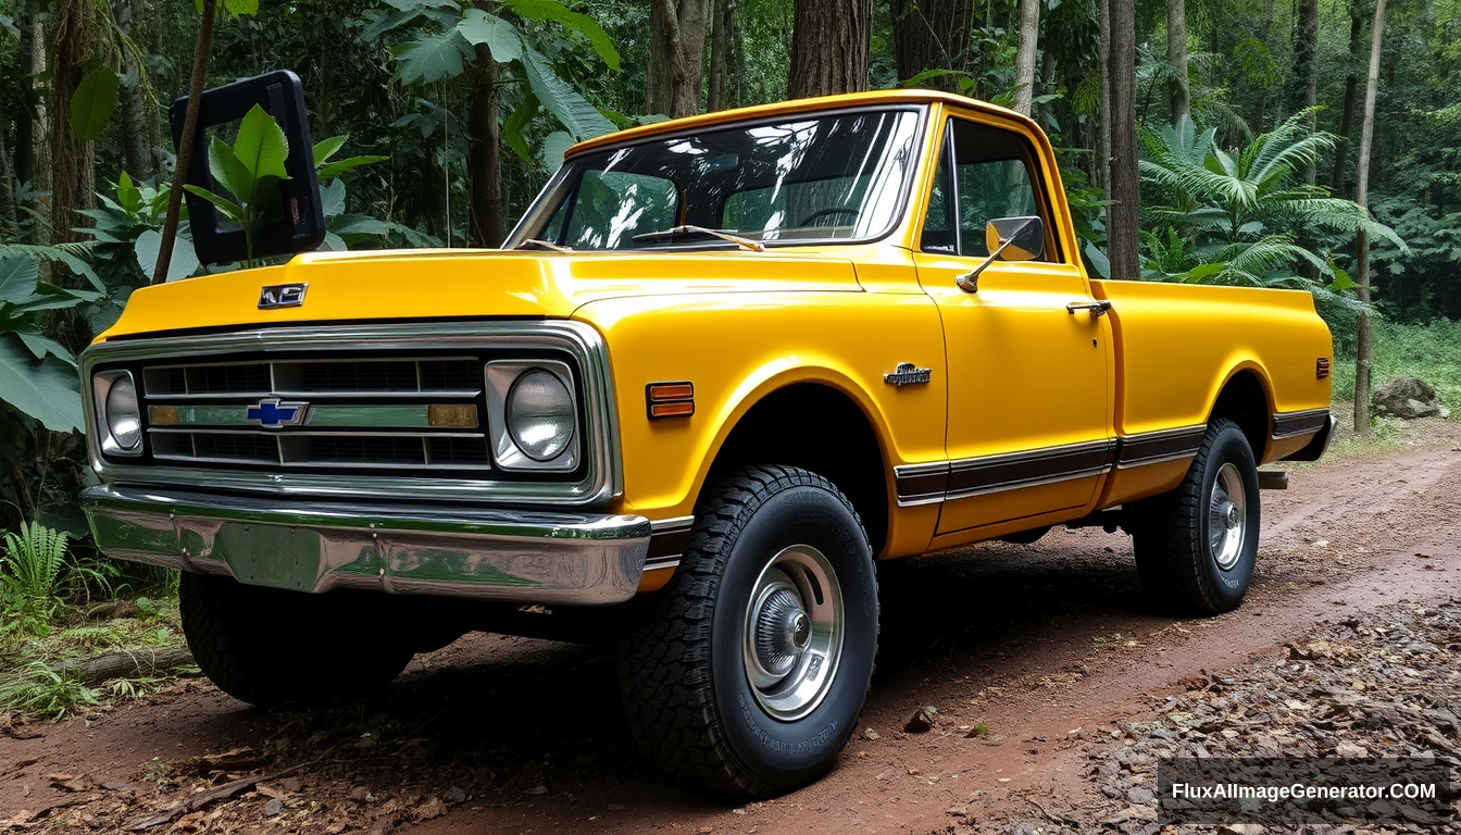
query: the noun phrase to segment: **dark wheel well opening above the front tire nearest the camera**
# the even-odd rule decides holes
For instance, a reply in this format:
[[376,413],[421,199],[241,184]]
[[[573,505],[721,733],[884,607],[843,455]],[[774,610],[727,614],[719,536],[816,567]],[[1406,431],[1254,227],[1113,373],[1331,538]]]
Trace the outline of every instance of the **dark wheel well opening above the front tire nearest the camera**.
[[888,535],[882,449],[872,424],[847,395],[814,383],[779,389],[751,407],[730,430],[710,480],[745,464],[783,464],[837,485],[862,518],[877,554]]

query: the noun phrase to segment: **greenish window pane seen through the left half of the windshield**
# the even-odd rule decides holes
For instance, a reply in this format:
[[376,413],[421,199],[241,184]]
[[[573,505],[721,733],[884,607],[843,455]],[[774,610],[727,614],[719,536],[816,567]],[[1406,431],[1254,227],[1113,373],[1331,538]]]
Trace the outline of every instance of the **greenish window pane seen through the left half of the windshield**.
[[672,181],[619,171],[584,171],[571,202],[562,243],[573,249],[634,249],[634,235],[674,227],[679,208]]

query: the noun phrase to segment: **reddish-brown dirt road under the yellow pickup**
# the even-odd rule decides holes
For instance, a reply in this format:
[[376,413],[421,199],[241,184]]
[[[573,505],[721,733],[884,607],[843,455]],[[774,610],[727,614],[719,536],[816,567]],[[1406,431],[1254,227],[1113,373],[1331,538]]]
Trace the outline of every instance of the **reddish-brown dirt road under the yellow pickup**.
[[[1277,655],[1319,624],[1461,594],[1455,424],[1423,446],[1296,471],[1262,499],[1255,586],[1211,620],[1150,614],[1122,535],[1055,531],[918,560],[887,583],[861,733],[833,774],[773,801],[726,803],[641,762],[603,649],[478,635],[419,657],[387,695],[330,711],[251,711],[197,680],[25,725],[38,736],[0,737],[0,819],[114,832],[263,772],[148,831],[1001,831],[1100,798],[1093,747],[1150,721],[1185,680]],[[932,730],[906,733],[923,705]]]

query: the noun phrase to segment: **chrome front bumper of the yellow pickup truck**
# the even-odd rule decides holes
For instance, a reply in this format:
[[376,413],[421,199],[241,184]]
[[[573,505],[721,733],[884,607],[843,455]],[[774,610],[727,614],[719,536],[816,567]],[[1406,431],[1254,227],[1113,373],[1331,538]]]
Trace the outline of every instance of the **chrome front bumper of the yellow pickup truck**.
[[634,597],[643,516],[262,500],[107,484],[82,493],[123,560],[307,592],[377,589],[532,604]]

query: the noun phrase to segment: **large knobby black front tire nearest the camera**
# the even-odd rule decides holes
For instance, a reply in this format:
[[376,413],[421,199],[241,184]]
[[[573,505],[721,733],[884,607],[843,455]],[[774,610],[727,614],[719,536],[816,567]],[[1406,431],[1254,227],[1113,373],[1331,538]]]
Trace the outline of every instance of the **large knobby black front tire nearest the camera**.
[[[836,595],[804,594],[804,604],[811,613],[840,600],[842,643],[825,680],[818,679],[821,665],[798,679],[820,681],[821,698],[777,714],[761,700],[776,687],[751,681],[747,623],[766,611],[752,592],[760,595],[764,578],[785,566],[777,560],[798,548],[817,550],[834,575],[828,585]],[[825,639],[827,630],[812,632]],[[868,696],[877,642],[877,573],[852,503],[805,469],[748,466],[707,488],[675,578],[625,619],[619,686],[640,747],[672,777],[768,797],[837,762]]]

